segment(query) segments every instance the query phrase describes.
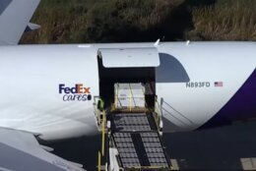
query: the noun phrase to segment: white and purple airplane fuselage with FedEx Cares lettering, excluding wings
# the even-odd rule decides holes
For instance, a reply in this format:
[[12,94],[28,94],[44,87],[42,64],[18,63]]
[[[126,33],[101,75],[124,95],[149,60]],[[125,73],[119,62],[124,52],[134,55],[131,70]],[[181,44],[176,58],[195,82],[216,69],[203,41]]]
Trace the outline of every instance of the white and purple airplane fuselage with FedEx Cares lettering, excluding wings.
[[[153,46],[1,46],[0,127],[40,134],[44,140],[97,134],[98,49]],[[256,43],[166,42],[157,48],[160,66],[154,71],[164,132],[256,117]]]

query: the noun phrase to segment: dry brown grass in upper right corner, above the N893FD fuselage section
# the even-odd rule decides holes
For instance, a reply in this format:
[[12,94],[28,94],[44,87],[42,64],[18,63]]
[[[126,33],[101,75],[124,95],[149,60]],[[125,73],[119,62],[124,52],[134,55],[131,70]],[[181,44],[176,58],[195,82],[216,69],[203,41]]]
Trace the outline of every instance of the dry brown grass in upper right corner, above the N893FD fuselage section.
[[187,37],[203,40],[256,40],[256,1],[219,0],[192,10],[194,29]]

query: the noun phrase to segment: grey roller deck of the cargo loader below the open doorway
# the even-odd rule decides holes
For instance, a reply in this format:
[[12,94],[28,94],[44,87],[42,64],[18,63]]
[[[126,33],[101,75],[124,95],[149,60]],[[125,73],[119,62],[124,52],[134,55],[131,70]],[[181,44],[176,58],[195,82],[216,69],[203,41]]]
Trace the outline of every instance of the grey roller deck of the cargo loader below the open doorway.
[[153,113],[115,113],[110,121],[111,139],[122,168],[169,170]]

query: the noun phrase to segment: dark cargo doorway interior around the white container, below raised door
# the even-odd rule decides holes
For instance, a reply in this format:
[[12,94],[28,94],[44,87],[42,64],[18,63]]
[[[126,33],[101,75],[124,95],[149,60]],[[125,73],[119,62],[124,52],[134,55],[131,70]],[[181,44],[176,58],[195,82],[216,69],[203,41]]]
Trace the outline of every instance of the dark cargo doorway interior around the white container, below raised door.
[[[100,65],[101,64],[101,65]],[[142,85],[145,87],[145,101],[149,108],[155,105],[156,75],[155,68],[104,68],[100,59],[99,66],[99,96],[110,107],[115,102],[115,86]],[[129,85],[127,85],[129,84]],[[127,89],[127,87],[120,87]]]

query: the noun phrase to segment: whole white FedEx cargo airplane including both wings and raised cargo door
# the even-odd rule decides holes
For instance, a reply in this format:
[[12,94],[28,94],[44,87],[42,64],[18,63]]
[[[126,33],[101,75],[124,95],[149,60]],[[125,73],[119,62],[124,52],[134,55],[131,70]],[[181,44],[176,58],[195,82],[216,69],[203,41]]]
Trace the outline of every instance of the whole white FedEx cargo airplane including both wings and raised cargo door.
[[82,170],[36,138],[97,134],[94,96],[114,83],[150,83],[163,132],[256,117],[255,42],[17,45],[38,3],[0,1],[0,170]]

